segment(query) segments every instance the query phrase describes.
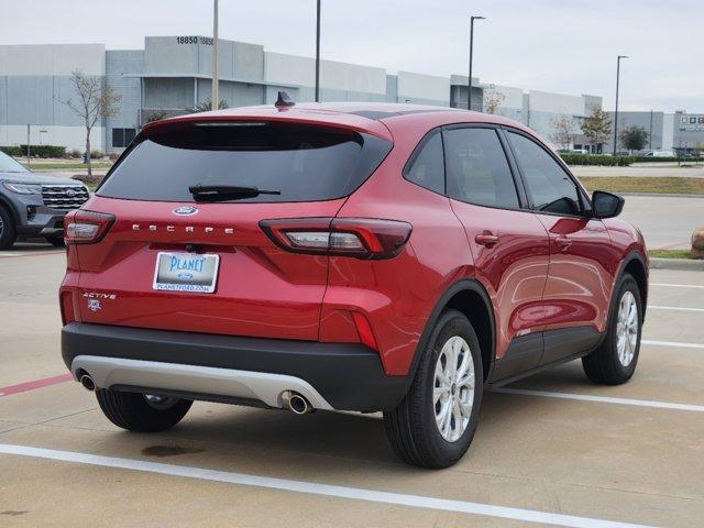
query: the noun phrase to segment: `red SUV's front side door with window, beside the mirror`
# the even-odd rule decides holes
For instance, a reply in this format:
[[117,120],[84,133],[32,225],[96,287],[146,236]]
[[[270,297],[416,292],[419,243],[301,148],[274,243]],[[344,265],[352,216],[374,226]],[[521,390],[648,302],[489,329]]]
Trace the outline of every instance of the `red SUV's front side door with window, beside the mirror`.
[[550,237],[542,363],[551,363],[590,349],[604,330],[613,283],[606,266],[613,249],[579,184],[553,154],[528,134],[506,135],[530,206]]

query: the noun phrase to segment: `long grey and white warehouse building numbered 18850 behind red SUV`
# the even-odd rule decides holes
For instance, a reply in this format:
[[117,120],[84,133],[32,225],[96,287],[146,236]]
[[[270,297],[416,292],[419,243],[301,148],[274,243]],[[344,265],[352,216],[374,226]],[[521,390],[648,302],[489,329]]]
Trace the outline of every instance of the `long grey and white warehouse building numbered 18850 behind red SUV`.
[[[154,111],[186,113],[210,98],[212,38],[199,35],[147,36],[144,50],[108,51],[101,44],[0,46],[0,143],[25,142],[26,124],[45,130],[43,142],[82,148],[82,123],[61,100],[72,96],[70,72],[95,75],[121,96],[119,114],[99,123],[95,147],[112,144],[114,129],[139,129]],[[315,59],[265,52],[257,44],[219,42],[220,98],[230,107],[271,105],[279,90],[296,101],[315,99]],[[321,101],[393,101],[466,108],[466,76],[438,77],[411,72],[322,61]],[[473,108],[482,110],[488,85],[474,79]],[[579,121],[601,98],[529,91],[509,86],[496,113],[528,124],[550,139],[551,120]],[[120,131],[118,131],[119,133]],[[680,141],[676,131],[673,142]],[[676,135],[676,138],[675,138]],[[38,136],[37,136],[38,139]],[[34,139],[32,140],[35,141]]]

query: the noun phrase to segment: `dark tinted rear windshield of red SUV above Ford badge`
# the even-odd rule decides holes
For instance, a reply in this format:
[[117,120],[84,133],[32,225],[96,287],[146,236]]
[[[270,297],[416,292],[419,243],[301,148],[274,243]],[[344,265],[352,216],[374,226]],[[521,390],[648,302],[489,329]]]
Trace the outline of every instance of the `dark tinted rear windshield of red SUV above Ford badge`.
[[373,135],[275,122],[180,123],[140,135],[98,196],[194,201],[190,186],[242,186],[280,195],[237,202],[318,201],[353,193],[392,144]]

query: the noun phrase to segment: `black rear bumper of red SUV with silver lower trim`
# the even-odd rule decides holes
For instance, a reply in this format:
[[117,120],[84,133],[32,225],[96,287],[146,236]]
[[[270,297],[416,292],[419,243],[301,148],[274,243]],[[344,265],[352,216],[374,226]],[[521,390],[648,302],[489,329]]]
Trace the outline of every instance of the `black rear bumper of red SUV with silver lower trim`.
[[384,374],[363,344],[240,338],[72,322],[62,331],[64,363],[101,388],[162,389],[193,399],[284,405],[296,391],[321,409],[395,408],[409,376]]

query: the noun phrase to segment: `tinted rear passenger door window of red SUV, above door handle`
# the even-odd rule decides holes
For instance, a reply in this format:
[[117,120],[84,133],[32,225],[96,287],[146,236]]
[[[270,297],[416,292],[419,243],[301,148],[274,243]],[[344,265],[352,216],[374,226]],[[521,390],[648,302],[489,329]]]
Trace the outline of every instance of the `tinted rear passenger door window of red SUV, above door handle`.
[[477,206],[517,209],[516,184],[496,131],[450,129],[444,134],[448,195]]

